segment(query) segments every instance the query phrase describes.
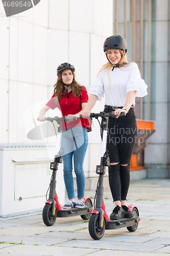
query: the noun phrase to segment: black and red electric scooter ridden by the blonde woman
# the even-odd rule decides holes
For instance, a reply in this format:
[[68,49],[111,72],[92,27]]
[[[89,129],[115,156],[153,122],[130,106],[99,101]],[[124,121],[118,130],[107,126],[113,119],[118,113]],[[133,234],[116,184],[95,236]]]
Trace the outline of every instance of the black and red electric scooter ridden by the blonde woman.
[[[125,113],[121,113],[120,116],[125,116]],[[95,194],[95,206],[91,212],[91,217],[89,220],[88,230],[90,236],[94,240],[99,240],[103,237],[105,229],[118,229],[122,227],[127,227],[130,232],[134,232],[138,227],[139,211],[137,207],[133,204],[129,205],[128,208],[133,212],[132,218],[123,218],[120,220],[109,220],[105,203],[103,201],[103,179],[106,170],[106,166],[109,166],[109,155],[107,152],[107,133],[108,133],[108,122],[109,117],[116,117],[114,112],[110,113],[91,113],[91,118],[98,119],[102,117],[103,119],[103,140],[102,140],[102,154],[101,154],[101,164],[96,166],[96,174],[99,175],[99,181],[96,187]]]

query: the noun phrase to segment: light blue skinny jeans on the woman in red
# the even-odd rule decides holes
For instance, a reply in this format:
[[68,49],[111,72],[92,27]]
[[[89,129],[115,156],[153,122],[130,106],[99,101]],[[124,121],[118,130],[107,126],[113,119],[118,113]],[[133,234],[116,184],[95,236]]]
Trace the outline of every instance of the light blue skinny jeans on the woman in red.
[[68,199],[75,198],[74,180],[72,177],[72,157],[74,158],[74,169],[77,182],[77,197],[84,197],[85,175],[83,170],[83,161],[88,145],[88,135],[86,127],[75,126],[62,131],[61,147],[64,148],[63,172],[64,183]]

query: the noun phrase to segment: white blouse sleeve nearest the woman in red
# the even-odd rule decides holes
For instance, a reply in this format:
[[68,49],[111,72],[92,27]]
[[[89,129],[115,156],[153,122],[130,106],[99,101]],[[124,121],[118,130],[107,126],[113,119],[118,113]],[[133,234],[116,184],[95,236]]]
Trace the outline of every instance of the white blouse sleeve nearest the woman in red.
[[103,77],[102,77],[102,72],[98,74],[97,79],[91,83],[88,94],[94,94],[98,96],[98,100],[101,100],[102,97],[104,97],[104,84],[103,84]]

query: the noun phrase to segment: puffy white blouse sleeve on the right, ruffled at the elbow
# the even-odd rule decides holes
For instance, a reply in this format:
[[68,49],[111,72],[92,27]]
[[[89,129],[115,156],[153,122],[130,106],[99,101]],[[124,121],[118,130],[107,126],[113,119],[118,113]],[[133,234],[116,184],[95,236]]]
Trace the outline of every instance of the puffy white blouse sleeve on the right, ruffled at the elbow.
[[148,94],[147,88],[147,84],[145,84],[140,76],[137,64],[133,62],[132,67],[130,67],[130,76],[126,92],[136,91],[136,97],[144,97]]

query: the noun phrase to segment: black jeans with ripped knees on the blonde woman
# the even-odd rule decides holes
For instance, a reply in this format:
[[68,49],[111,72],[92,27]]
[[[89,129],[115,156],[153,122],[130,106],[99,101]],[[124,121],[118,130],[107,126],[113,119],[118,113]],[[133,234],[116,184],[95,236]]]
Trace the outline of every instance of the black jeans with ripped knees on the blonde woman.
[[[104,112],[109,111],[105,109]],[[109,185],[114,201],[127,199],[130,184],[130,162],[136,138],[137,125],[133,108],[126,116],[109,117],[107,149],[110,163],[118,163],[109,166]]]

